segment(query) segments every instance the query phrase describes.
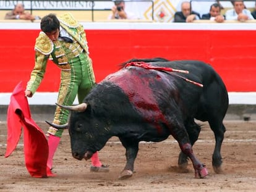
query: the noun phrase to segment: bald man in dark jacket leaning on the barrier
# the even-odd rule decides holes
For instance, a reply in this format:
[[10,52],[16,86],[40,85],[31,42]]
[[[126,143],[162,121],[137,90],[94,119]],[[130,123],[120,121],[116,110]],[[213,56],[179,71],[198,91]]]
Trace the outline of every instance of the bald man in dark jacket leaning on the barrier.
[[174,14],[174,21],[173,22],[193,22],[193,20],[200,19],[200,14],[191,10],[190,2],[184,1],[181,3],[181,11],[177,11]]

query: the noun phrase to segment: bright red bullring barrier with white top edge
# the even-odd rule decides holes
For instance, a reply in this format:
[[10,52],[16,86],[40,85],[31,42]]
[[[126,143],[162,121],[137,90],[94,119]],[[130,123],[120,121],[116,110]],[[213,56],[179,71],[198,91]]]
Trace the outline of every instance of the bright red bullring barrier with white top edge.
[[[228,91],[256,91],[255,23],[100,24],[83,23],[96,81],[116,72],[118,64],[129,59],[165,57],[208,62],[220,73]],[[0,24],[1,93],[12,92],[20,80],[29,79],[38,26],[23,23],[16,29]],[[56,92],[58,88],[59,69],[49,62],[38,91]]]

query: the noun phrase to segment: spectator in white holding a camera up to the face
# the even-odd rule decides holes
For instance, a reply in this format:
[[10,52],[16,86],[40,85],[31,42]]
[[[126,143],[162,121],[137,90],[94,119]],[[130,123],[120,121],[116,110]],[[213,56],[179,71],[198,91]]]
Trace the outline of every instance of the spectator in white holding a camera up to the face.
[[126,10],[126,3],[123,0],[114,1],[111,10],[112,14],[109,15],[108,19],[138,19],[133,12]]

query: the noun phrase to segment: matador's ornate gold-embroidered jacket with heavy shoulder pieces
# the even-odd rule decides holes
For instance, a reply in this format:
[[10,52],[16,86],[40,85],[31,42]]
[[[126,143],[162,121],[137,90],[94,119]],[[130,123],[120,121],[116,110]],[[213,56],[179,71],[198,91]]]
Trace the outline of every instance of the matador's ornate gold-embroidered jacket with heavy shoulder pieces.
[[[27,83],[27,90],[33,94],[41,83],[46,71],[48,59],[53,60],[62,70],[70,70],[69,59],[79,56],[80,52],[88,54],[87,39],[83,26],[67,13],[58,17],[60,25],[70,36],[74,43],[64,43],[64,41],[51,41],[48,36],[41,31],[35,42],[35,67]],[[66,50],[69,50],[67,53]]]

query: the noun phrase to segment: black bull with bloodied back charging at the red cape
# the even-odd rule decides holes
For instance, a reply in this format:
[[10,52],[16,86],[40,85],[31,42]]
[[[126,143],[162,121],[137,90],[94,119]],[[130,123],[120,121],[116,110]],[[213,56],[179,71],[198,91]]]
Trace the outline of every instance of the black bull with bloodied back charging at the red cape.
[[[119,175],[122,179],[132,176],[140,141],[158,142],[172,135],[181,148],[179,167],[184,169],[189,157],[195,177],[203,178],[207,169],[192,151],[200,133],[197,119],[208,121],[215,134],[212,165],[220,173],[220,151],[226,131],[223,119],[228,109],[228,93],[220,76],[200,61],[155,58],[132,59],[127,63],[142,61],[152,67],[170,67],[189,73],[124,67],[98,83],[83,104],[61,106],[72,111],[68,125],[72,155],[79,160],[89,159],[109,138],[118,136],[126,148],[126,166]],[[203,87],[185,79],[202,83]]]

